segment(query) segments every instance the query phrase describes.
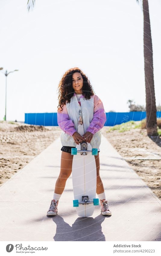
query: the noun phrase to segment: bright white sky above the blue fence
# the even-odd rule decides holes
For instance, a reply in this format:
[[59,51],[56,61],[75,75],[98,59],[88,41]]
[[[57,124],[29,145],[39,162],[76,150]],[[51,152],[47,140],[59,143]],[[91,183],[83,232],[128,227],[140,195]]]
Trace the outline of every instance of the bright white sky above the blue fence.
[[[136,0],[1,0],[0,67],[8,75],[7,120],[24,113],[56,112],[58,83],[81,68],[106,112],[145,105],[143,13]],[[161,103],[161,1],[149,0],[156,105]],[[0,71],[2,73],[2,71]],[[5,75],[0,74],[0,120]]]

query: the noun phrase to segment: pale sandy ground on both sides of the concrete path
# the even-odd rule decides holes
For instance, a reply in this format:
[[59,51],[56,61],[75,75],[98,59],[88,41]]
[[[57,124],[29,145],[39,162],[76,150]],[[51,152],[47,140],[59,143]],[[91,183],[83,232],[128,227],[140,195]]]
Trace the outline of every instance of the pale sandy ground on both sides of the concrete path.
[[[0,123],[0,186],[41,153],[62,130],[56,126],[27,125],[20,122]],[[102,134],[134,171],[161,199],[161,137],[147,136],[145,129],[110,131]]]

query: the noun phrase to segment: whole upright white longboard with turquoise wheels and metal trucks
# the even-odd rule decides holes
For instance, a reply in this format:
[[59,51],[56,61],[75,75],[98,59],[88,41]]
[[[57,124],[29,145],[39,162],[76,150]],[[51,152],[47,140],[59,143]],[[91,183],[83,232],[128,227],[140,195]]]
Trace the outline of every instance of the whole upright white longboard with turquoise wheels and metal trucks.
[[[78,129],[78,133],[82,136],[84,131]],[[81,148],[84,148],[84,150],[81,150]],[[83,142],[71,151],[71,154],[73,154],[73,206],[76,208],[78,216],[89,217],[93,215],[94,205],[99,205],[99,199],[96,198],[97,177],[94,157],[94,155],[97,155],[98,149],[92,149],[90,143]]]

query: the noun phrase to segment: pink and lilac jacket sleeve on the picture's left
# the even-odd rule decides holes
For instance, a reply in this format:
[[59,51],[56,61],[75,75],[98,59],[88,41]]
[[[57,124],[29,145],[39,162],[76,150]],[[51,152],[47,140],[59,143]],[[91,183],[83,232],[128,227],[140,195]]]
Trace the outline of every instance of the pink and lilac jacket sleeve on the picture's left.
[[76,131],[74,129],[74,123],[72,122],[72,120],[69,118],[68,115],[68,111],[66,108],[66,105],[64,105],[62,107],[62,111],[61,108],[59,107],[58,112],[57,112],[57,122],[58,122],[58,126],[67,134],[69,134],[70,136],[72,136],[74,134],[74,132]]

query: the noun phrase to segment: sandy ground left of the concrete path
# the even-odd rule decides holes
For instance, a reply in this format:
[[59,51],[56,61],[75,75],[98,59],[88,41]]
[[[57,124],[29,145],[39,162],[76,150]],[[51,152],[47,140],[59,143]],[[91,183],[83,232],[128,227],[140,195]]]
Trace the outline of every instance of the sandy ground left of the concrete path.
[[55,126],[0,123],[0,186],[57,139]]

